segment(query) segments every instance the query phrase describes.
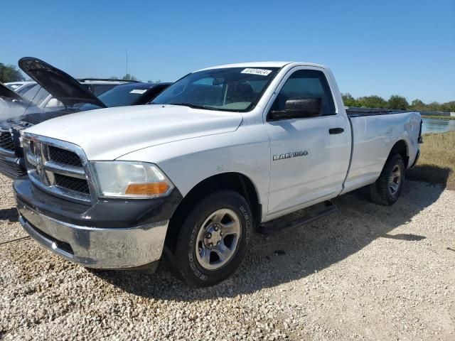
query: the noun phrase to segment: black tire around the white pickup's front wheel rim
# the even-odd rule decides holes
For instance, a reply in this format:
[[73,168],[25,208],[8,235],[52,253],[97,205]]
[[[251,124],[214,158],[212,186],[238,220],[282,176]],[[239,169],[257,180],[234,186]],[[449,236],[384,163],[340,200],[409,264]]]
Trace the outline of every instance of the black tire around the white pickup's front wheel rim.
[[[208,224],[212,224],[211,222],[206,223],[203,227],[204,222],[210,219],[210,215],[219,210],[230,210],[230,212],[235,213],[238,217],[237,226],[238,222],[240,222],[240,237],[236,239],[236,247],[232,247],[235,251],[230,251],[230,259],[226,261],[225,265],[220,267],[220,269],[208,270],[198,260],[200,254],[196,255],[196,252],[198,252],[196,251],[196,244],[200,243],[198,242],[200,230],[205,230]],[[168,266],[171,267],[173,274],[191,286],[199,288],[213,286],[228,278],[240,265],[247,251],[251,235],[252,213],[245,198],[232,190],[215,192],[198,202],[185,218],[178,233],[175,251],[168,250],[168,252],[171,252],[167,257]],[[225,245],[224,239],[220,241],[223,242],[223,245]],[[204,243],[205,241],[206,239],[203,239]],[[209,259],[211,256],[213,254],[210,254]]]

